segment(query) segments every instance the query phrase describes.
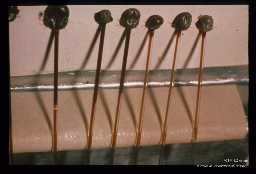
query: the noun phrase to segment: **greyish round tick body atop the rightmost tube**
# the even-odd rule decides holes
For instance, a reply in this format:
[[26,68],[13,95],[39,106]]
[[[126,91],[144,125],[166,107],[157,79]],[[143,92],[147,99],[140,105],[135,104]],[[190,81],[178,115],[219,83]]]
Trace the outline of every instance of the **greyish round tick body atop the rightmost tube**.
[[208,32],[212,30],[213,18],[208,15],[200,15],[196,22],[196,27],[202,32]]

